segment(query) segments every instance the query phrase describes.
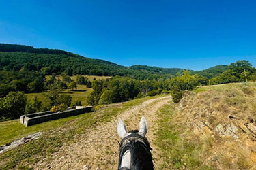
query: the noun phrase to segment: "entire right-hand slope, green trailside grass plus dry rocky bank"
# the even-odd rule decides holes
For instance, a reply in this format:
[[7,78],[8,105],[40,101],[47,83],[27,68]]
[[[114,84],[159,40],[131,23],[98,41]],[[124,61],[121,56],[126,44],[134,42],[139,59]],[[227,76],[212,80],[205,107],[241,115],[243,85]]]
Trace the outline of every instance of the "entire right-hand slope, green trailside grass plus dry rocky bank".
[[161,169],[256,169],[256,83],[202,86],[158,112]]

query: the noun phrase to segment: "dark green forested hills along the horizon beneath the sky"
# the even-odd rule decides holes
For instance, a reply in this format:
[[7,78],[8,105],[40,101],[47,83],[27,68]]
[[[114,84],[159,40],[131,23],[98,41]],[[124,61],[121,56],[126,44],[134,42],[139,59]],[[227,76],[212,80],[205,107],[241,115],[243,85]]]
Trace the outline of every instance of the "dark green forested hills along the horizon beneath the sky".
[[[64,50],[33,48],[17,44],[0,44],[0,70],[19,71],[22,68],[33,71],[44,71],[46,74],[65,72],[68,75],[120,75],[144,80],[146,78],[171,78],[181,68],[161,68],[147,65],[125,67],[109,61],[92,59],[66,52]],[[217,65],[203,71],[191,73],[212,78],[227,70],[227,65]]]

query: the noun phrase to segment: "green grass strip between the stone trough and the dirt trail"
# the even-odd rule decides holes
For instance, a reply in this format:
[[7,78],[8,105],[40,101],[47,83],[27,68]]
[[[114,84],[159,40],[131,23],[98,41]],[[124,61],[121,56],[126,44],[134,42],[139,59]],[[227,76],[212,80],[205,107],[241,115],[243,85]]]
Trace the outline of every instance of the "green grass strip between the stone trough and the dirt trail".
[[38,140],[31,141],[23,146],[18,146],[17,148],[1,154],[0,169],[33,169],[33,167],[29,166],[43,158],[46,158],[45,161],[51,161],[51,154],[59,150],[59,148],[63,146],[63,143],[74,142],[74,136],[85,134],[90,129],[94,129],[98,124],[112,120],[114,116],[117,116],[117,114],[133,105],[138,105],[147,99],[153,98],[156,97],[135,99],[123,103],[122,105],[117,105],[116,107],[104,109],[100,112],[53,120],[28,128],[19,124],[18,120],[1,122],[0,139],[4,138],[1,143],[38,131],[43,131],[43,134]]

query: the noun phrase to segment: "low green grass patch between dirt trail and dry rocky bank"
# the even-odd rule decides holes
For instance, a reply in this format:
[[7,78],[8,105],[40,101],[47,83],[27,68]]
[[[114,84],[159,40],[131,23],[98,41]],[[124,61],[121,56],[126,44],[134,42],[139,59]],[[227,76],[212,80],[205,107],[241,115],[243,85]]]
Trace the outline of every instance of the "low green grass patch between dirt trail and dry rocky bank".
[[[156,145],[162,150],[160,169],[214,169],[203,163],[205,144],[193,134],[184,119],[177,118],[174,104],[169,103],[158,113]],[[186,120],[186,119],[185,119]]]

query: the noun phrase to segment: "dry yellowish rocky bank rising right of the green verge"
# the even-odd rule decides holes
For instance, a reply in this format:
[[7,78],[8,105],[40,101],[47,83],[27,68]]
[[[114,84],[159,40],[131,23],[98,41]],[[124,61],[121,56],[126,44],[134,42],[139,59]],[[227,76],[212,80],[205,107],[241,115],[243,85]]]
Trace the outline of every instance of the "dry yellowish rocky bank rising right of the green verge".
[[199,137],[199,158],[205,164],[216,169],[256,168],[255,96],[255,82],[202,86],[180,101],[174,120],[182,120]]

